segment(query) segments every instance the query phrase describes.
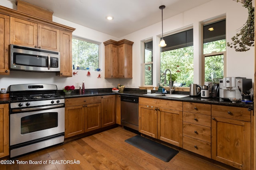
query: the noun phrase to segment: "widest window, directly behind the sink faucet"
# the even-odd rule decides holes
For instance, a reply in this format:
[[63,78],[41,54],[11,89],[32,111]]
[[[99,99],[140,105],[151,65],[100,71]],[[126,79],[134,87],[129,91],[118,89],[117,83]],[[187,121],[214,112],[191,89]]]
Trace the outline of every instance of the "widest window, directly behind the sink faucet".
[[188,87],[193,83],[193,29],[181,31],[164,37],[167,44],[161,48],[160,83],[169,86],[170,72],[166,72],[166,84],[164,84],[164,72],[169,69],[172,73],[172,81],[175,86]]

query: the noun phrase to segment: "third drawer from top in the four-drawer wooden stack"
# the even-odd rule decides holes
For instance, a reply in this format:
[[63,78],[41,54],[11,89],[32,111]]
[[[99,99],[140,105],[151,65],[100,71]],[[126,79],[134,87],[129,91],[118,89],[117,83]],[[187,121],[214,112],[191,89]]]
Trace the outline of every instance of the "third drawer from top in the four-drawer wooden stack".
[[183,135],[211,143],[211,128],[183,122]]

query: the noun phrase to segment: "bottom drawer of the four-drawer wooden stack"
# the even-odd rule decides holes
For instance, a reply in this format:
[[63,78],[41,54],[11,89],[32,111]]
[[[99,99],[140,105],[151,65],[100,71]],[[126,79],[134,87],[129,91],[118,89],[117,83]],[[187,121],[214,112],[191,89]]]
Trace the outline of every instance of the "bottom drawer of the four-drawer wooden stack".
[[205,141],[183,136],[183,149],[211,158],[211,144]]

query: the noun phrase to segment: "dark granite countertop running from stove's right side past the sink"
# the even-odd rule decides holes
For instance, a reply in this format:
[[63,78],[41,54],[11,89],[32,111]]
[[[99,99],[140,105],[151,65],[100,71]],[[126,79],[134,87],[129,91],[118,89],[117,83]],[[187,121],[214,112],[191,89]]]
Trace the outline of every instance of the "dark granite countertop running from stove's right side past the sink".
[[78,98],[78,97],[88,97],[88,96],[104,96],[104,95],[112,95],[112,94],[118,94],[118,95],[132,95],[132,96],[138,96],[138,97],[144,97],[144,98],[156,98],[156,99],[162,99],[162,100],[175,100],[175,101],[181,101],[181,102],[195,102],[195,103],[202,103],[202,104],[215,104],[215,105],[222,105],[222,106],[234,106],[234,107],[250,107],[253,108],[253,103],[243,103],[243,102],[236,102],[232,103],[228,99],[220,99],[220,98],[201,98],[197,96],[188,96],[185,98],[165,98],[161,96],[147,96],[144,94],[147,94],[146,90],[139,90],[139,89],[129,89],[126,88],[123,93],[113,93],[111,89],[105,89],[105,90],[87,90],[84,94],[79,94],[78,91],[70,94],[65,95],[65,98]]

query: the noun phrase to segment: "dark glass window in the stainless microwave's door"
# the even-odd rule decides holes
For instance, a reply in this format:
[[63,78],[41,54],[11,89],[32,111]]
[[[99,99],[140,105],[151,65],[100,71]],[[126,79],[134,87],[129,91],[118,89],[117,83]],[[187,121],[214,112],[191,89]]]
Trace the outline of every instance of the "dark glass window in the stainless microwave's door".
[[22,66],[48,67],[48,57],[40,55],[13,53],[13,64]]

